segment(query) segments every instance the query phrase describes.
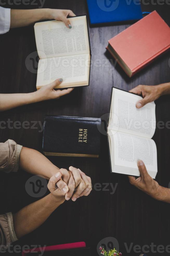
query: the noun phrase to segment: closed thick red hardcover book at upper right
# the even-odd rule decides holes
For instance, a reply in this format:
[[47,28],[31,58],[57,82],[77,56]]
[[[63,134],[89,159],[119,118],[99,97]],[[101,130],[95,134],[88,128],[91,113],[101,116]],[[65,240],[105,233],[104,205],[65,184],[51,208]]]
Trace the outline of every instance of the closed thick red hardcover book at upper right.
[[108,41],[107,49],[132,77],[170,48],[170,27],[153,11]]

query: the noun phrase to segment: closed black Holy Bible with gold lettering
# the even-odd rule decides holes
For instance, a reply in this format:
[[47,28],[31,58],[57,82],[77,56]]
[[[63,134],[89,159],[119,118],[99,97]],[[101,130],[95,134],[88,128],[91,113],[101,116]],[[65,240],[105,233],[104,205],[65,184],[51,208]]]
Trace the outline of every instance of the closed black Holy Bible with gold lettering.
[[99,157],[100,118],[45,116],[43,152],[47,156]]

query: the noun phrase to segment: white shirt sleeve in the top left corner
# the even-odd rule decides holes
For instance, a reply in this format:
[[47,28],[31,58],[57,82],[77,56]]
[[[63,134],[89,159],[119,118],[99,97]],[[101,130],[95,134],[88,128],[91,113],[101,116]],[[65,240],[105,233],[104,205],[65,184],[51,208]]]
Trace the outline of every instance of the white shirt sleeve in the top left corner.
[[11,9],[0,7],[0,34],[9,31],[11,22]]

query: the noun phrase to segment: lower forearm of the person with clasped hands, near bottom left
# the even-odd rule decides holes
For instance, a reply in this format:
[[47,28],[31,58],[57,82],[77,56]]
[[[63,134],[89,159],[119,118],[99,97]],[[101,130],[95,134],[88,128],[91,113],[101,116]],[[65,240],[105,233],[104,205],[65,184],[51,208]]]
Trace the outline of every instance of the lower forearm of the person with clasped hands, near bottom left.
[[32,232],[42,225],[64,201],[58,202],[52,194],[49,194],[13,214],[14,230],[17,238]]

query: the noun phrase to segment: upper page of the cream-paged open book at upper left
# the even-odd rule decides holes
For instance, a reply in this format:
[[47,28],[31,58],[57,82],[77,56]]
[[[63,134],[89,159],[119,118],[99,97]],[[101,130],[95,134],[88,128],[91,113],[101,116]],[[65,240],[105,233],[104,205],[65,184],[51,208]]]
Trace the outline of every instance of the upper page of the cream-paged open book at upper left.
[[38,56],[42,58],[90,53],[86,16],[63,21],[44,21],[34,25]]

